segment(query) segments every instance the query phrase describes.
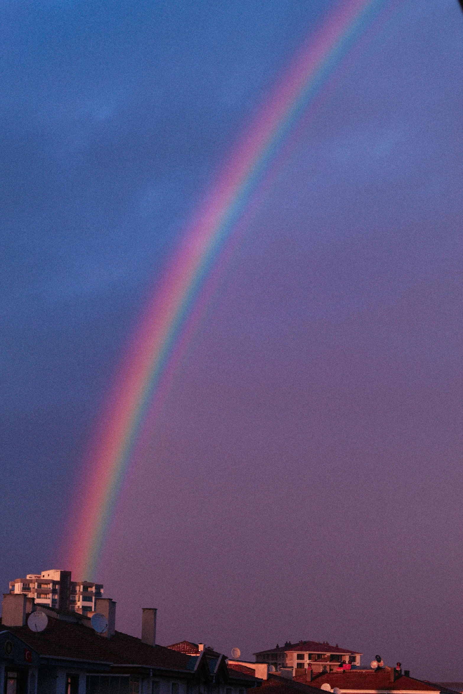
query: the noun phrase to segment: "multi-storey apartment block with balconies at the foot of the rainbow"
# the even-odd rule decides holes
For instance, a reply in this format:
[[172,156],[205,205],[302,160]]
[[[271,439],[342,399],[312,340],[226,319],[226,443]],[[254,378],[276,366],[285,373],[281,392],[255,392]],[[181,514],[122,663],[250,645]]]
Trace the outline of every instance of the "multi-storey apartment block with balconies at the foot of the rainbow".
[[70,571],[49,569],[10,581],[10,593],[27,595],[37,605],[83,614],[95,611],[96,599],[103,597],[103,584],[71,581]]

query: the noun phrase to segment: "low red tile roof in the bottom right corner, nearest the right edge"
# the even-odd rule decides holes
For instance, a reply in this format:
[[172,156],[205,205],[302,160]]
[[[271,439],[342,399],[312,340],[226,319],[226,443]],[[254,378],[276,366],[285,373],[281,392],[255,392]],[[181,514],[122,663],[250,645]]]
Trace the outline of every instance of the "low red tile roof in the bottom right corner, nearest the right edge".
[[[305,675],[303,676],[305,680]],[[296,681],[302,681],[302,676],[297,677]],[[321,688],[322,684],[328,683],[330,689],[338,687],[342,692],[373,692],[373,691],[446,691],[438,684],[432,682],[422,682],[414,677],[405,675],[396,676],[396,681],[391,682],[391,668],[381,668],[380,670],[345,670],[344,672],[324,672],[315,675],[310,682],[312,687]]]

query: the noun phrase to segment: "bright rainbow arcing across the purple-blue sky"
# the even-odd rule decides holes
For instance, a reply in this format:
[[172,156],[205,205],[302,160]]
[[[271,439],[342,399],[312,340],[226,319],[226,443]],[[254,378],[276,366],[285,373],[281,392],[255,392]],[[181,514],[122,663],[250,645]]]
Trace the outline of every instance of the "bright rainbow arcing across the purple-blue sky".
[[85,491],[65,536],[67,566],[79,578],[94,579],[124,477],[201,313],[206,278],[289,131],[385,2],[337,3],[298,51],[185,229],[135,330],[84,462]]

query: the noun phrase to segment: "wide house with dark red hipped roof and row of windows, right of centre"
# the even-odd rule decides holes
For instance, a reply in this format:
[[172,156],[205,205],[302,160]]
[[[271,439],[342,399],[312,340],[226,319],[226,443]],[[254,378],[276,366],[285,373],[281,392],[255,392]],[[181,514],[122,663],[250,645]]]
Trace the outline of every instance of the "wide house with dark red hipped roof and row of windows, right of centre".
[[255,653],[256,663],[267,663],[275,670],[280,668],[294,668],[294,670],[307,670],[312,672],[333,672],[342,666],[356,668],[360,666],[360,656],[363,653],[339,648],[329,643],[318,641],[299,641],[299,643],[285,643],[284,646],[269,648]]

